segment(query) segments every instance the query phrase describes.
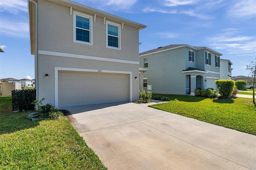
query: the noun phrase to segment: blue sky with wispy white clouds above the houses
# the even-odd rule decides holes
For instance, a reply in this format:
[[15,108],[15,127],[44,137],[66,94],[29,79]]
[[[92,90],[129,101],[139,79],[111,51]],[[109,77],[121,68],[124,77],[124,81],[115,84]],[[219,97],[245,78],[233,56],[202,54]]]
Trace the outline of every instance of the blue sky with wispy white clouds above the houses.
[[[147,26],[140,53],[160,46],[209,47],[245,75],[256,57],[256,0],[73,0]],[[0,1],[0,78],[34,79],[27,0]]]

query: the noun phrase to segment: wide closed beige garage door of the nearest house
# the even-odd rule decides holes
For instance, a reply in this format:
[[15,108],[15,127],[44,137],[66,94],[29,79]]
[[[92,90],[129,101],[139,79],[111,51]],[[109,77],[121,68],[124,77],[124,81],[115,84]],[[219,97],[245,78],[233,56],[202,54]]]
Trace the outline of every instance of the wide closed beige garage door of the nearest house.
[[59,107],[130,101],[130,75],[58,72]]

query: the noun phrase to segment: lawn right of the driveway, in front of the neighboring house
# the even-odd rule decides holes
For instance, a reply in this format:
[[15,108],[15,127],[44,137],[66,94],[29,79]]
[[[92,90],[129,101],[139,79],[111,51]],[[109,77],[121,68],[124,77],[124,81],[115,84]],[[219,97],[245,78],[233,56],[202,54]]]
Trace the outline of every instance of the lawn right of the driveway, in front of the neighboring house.
[[160,96],[179,101],[150,105],[150,107],[256,135],[256,108],[253,103],[249,103],[251,99],[209,99],[189,95]]

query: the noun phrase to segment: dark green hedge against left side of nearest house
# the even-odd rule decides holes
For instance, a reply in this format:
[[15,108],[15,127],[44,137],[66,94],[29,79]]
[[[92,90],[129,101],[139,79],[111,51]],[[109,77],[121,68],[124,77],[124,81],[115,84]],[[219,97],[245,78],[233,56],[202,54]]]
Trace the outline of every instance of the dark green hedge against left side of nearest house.
[[34,110],[32,102],[36,100],[36,89],[12,91],[12,111]]

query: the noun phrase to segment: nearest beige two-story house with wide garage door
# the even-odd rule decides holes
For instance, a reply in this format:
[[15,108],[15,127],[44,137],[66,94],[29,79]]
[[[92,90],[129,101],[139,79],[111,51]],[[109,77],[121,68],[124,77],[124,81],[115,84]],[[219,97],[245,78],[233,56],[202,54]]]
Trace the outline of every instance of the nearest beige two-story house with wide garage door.
[[59,108],[139,99],[139,30],[146,26],[68,0],[34,1],[37,99]]

